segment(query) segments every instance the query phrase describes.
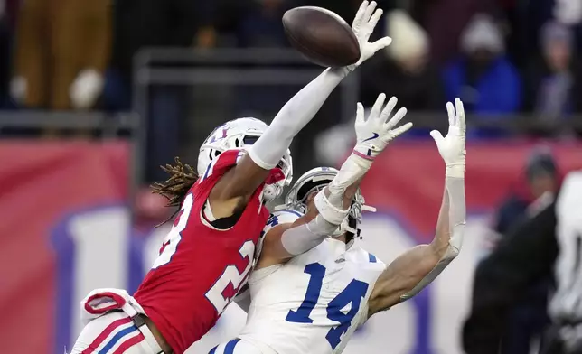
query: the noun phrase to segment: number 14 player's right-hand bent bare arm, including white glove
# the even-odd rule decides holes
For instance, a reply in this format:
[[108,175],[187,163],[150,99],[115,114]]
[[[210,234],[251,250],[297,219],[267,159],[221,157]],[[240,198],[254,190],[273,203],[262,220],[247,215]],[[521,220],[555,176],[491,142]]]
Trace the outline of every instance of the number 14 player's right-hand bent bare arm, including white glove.
[[434,130],[438,152],[446,163],[445,193],[436,235],[429,245],[419,245],[399,256],[380,275],[368,302],[368,316],[389,309],[419,293],[459,254],[465,233],[465,112],[456,98],[447,103],[449,128],[443,137]]

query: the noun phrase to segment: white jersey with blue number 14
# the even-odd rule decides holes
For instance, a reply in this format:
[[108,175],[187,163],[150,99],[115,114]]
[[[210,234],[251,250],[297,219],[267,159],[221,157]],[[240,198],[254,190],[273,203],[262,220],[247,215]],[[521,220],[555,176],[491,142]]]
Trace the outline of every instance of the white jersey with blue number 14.
[[[277,211],[265,233],[300,215]],[[284,265],[258,269],[249,276],[252,302],[239,338],[277,354],[341,353],[365,321],[371,291],[385,268],[361,247],[327,238]]]

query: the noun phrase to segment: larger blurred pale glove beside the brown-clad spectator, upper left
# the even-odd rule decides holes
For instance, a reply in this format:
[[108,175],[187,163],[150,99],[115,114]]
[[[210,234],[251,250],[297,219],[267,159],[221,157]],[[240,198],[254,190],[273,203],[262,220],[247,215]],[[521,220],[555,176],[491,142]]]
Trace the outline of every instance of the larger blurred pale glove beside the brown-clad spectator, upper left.
[[72,107],[87,109],[92,107],[103,89],[103,77],[99,71],[86,69],[80,71],[70,85],[69,96]]

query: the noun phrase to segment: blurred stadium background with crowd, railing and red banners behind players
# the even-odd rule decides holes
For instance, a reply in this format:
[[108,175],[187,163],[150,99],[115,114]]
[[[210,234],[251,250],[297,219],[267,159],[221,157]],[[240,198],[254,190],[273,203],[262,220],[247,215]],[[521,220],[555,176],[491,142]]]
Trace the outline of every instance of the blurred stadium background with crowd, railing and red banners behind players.
[[[295,175],[342,163],[357,101],[398,97],[415,128],[362,186],[380,210],[366,215],[362,242],[388,263],[432,239],[444,168],[427,133],[446,129],[446,101],[464,101],[463,253],[413,301],[369,321],[346,352],[470,353],[475,266],[582,168],[582,2],[378,2],[385,14],[373,35],[393,42],[296,137]],[[227,120],[269,122],[322,70],[283,33],[282,15],[300,5],[351,23],[360,0],[0,0],[2,351],[61,354],[89,290],[136,290],[167,231],[154,227],[170,210],[148,191],[165,179],[159,166],[176,155],[195,165]],[[538,352],[551,277],[536,286],[508,315],[504,353]],[[230,306],[192,352],[243,323]]]

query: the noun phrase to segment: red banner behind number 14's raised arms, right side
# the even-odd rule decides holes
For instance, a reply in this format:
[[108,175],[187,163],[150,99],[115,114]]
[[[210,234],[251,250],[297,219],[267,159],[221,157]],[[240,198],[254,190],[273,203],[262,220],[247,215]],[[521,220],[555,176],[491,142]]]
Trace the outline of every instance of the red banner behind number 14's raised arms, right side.
[[[582,144],[546,144],[561,172],[582,168]],[[522,189],[529,143],[473,143],[467,146],[467,210],[489,211],[512,188]],[[390,145],[363,182],[367,204],[410,223],[420,240],[432,238],[443,197],[445,165],[434,142]]]

